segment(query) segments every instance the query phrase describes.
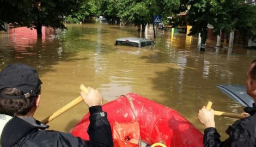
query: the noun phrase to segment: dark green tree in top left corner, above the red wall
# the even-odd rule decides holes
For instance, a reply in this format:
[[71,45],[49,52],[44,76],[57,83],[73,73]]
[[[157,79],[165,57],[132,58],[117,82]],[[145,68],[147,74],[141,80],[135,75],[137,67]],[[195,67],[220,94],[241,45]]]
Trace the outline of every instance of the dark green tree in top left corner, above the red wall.
[[[65,29],[63,17],[76,13],[84,0],[2,0],[0,1],[0,23],[18,24],[35,28],[38,36],[41,28],[52,27]],[[2,25],[0,30],[4,30]]]

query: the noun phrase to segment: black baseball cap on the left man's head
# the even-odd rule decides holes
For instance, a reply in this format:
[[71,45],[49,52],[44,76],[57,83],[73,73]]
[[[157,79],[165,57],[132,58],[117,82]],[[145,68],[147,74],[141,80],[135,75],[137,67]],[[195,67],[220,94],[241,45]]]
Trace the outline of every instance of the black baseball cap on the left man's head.
[[41,84],[38,72],[26,64],[10,64],[0,72],[0,89],[16,88],[22,92],[22,95],[17,96],[0,94],[2,99],[27,99],[30,96],[38,96]]

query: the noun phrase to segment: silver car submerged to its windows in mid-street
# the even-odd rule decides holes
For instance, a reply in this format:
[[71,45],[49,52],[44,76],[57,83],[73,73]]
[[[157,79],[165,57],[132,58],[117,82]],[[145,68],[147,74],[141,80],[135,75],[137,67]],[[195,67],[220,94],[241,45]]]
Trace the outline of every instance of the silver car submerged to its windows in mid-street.
[[134,47],[145,47],[154,46],[155,42],[145,38],[119,38],[115,40],[114,45],[134,46]]

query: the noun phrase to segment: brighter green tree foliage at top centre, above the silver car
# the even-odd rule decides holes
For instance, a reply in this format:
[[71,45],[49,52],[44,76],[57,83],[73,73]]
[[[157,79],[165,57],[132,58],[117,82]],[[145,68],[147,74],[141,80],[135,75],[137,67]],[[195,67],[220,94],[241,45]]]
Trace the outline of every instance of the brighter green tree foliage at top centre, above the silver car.
[[178,7],[178,4],[178,0],[103,0],[99,11],[106,19],[145,25],[153,23],[154,15],[162,15],[163,18],[172,15],[173,8]]

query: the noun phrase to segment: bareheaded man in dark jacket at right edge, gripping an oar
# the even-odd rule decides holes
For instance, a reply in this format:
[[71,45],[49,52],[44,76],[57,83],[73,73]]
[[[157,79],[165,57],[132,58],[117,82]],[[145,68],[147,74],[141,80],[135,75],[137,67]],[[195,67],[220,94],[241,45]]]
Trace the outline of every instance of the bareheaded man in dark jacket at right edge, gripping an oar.
[[[247,71],[247,94],[256,102],[256,60],[253,60]],[[198,119],[204,124],[204,146],[256,146],[256,107],[246,107],[247,118],[240,119],[229,126],[226,133],[229,138],[221,142],[220,134],[215,128],[214,110],[206,110],[205,106],[199,110]]]

